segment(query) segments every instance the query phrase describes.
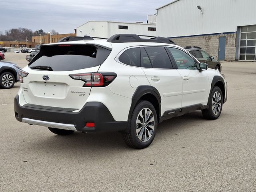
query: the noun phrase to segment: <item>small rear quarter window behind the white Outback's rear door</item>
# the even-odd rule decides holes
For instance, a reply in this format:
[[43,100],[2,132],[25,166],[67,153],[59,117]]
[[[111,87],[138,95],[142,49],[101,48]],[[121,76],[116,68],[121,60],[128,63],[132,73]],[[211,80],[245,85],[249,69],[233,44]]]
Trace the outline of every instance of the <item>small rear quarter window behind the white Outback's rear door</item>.
[[126,65],[140,67],[140,48],[131,48],[124,51],[120,55],[119,61]]

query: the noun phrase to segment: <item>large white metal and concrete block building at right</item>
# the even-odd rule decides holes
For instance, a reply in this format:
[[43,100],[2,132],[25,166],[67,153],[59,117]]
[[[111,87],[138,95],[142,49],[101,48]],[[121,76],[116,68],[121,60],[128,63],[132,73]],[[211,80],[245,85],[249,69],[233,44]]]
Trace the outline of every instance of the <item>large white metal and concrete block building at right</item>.
[[256,0],[175,0],[157,8],[157,36],[219,60],[256,61]]

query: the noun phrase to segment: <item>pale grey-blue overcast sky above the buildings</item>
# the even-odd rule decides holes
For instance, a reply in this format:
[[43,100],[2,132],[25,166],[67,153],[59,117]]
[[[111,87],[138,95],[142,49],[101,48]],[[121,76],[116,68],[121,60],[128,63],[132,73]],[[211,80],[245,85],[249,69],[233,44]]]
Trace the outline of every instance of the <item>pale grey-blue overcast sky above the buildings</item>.
[[146,22],[147,15],[173,0],[3,0],[0,31],[29,28],[73,33],[89,20]]

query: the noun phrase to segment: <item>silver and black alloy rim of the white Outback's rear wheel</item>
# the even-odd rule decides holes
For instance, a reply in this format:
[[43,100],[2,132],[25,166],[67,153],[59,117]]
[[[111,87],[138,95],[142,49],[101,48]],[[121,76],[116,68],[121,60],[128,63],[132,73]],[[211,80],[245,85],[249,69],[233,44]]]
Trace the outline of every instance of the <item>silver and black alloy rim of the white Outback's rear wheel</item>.
[[143,108],[138,114],[136,120],[136,133],[140,141],[148,141],[155,127],[155,118],[152,110],[149,108]]

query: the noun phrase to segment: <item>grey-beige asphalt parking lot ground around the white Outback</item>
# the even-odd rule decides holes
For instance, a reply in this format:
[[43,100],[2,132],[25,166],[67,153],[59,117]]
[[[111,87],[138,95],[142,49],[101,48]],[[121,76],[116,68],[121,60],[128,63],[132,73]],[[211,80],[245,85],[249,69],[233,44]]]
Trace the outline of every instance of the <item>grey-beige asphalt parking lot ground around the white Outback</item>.
[[[24,67],[26,54],[6,53]],[[0,89],[0,191],[256,191],[256,62],[222,62],[228,100],[217,120],[200,111],[159,124],[146,149],[118,132],[57,136],[16,121]]]

